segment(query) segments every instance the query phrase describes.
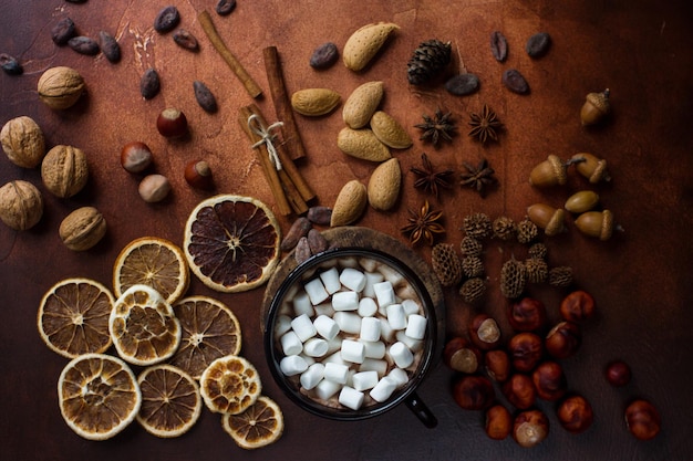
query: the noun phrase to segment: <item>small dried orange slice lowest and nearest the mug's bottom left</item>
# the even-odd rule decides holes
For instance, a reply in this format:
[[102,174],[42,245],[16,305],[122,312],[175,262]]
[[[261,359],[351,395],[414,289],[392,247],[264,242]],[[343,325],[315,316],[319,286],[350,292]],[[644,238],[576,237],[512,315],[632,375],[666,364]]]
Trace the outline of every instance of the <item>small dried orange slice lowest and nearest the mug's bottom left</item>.
[[273,443],[281,437],[283,415],[277,402],[260,396],[242,413],[224,415],[221,426],[240,448],[251,450]]

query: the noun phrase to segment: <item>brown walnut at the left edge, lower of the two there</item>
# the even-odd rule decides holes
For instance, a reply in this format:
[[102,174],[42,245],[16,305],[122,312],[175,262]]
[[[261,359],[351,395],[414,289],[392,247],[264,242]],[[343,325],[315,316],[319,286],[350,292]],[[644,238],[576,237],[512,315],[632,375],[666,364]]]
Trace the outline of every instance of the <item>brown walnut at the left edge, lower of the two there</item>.
[[12,229],[34,227],[43,216],[43,197],[31,182],[17,180],[0,188],[0,220]]

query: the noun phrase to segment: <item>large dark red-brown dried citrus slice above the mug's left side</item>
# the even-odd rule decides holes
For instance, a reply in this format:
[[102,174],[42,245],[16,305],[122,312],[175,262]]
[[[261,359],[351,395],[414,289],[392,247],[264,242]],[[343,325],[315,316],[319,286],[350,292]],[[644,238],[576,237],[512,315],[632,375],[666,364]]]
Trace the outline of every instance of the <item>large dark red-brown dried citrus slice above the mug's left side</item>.
[[221,195],[203,200],[185,226],[190,270],[208,287],[230,293],[267,282],[279,261],[280,228],[252,197]]

